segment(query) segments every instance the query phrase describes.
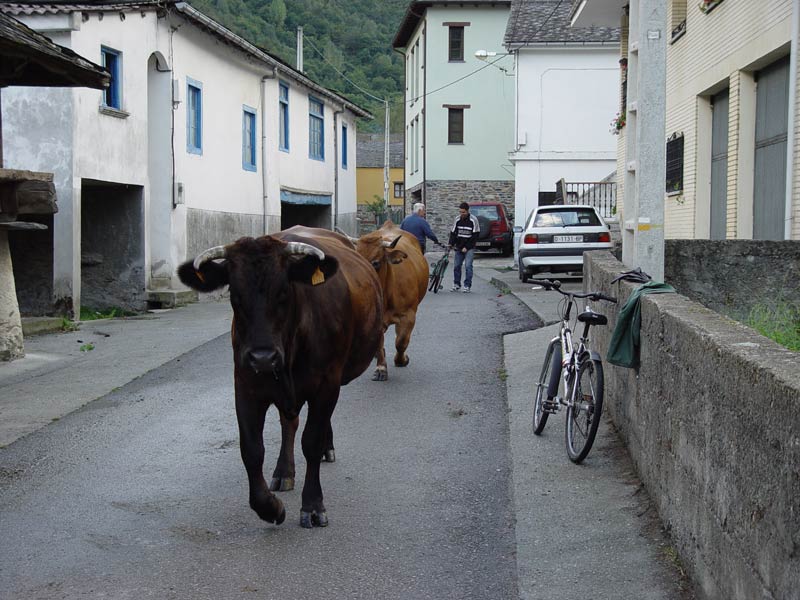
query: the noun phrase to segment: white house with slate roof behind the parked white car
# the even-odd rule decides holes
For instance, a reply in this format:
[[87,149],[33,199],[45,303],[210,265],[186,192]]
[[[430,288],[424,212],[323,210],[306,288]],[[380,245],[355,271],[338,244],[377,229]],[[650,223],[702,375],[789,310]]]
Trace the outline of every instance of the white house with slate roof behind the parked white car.
[[619,112],[619,29],[570,27],[571,4],[514,0],[505,45],[516,72],[516,224],[556,182],[591,184],[616,167],[609,123]]

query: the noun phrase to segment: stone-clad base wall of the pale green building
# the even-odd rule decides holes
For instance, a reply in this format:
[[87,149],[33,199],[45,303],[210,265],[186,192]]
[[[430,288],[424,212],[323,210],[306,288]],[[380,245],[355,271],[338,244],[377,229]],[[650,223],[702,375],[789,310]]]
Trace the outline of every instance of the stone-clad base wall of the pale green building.
[[440,240],[447,239],[462,202],[502,202],[513,223],[514,181],[427,181],[426,218]]

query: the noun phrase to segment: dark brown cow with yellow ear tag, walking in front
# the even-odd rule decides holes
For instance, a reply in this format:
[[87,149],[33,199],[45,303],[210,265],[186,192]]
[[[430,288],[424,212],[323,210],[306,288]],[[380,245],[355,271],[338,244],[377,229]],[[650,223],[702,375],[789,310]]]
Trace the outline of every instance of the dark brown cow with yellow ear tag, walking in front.
[[[206,250],[178,274],[201,292],[230,288],[236,417],[250,507],[270,523],[285,519],[283,503],[272,491],[294,487],[294,438],[307,403],[300,524],[324,527],[319,466],[325,450],[332,451],[331,415],[339,388],[369,367],[382,340],[383,299],[375,270],[345,237],[298,226]],[[271,404],[280,414],[282,436],[267,487],[263,430]]]

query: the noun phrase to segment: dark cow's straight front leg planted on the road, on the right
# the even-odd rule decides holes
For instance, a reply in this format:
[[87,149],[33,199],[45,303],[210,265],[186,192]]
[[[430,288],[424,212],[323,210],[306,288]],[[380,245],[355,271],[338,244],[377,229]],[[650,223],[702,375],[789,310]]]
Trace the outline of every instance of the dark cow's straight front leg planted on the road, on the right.
[[339,389],[334,388],[332,397],[318,397],[308,404],[308,418],[303,430],[303,455],[306,457],[306,480],[303,484],[303,508],[300,512],[301,527],[326,527],[328,513],[322,502],[322,484],[319,481],[320,458],[325,441],[325,431],[331,426],[331,415],[336,407]]

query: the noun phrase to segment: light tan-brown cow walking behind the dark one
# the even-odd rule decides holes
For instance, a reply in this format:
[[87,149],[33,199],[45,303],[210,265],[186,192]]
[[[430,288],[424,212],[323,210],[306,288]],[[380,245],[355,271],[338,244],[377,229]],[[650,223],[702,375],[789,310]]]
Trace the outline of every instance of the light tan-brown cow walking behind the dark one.
[[[383,289],[383,331],[394,325],[394,364],[405,367],[409,362],[406,349],[417,321],[417,306],[428,289],[428,261],[422,255],[417,238],[392,221],[361,236],[355,245],[358,253],[372,263],[378,273]],[[386,381],[388,370],[383,337],[376,358],[378,365],[372,378]]]

